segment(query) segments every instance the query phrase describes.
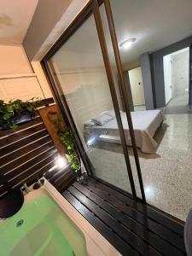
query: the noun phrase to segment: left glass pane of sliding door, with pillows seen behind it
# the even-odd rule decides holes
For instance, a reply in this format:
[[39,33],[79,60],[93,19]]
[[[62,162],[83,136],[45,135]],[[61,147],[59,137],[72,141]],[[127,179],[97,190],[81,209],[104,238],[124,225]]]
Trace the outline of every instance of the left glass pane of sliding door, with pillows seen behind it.
[[131,192],[93,16],[50,59],[49,68],[67,100],[94,175]]

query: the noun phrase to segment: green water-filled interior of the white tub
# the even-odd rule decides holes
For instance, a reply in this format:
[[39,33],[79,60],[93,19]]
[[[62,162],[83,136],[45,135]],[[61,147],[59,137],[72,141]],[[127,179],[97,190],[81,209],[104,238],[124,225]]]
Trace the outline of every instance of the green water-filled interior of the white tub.
[[84,235],[49,195],[39,195],[0,224],[1,256],[87,255]]

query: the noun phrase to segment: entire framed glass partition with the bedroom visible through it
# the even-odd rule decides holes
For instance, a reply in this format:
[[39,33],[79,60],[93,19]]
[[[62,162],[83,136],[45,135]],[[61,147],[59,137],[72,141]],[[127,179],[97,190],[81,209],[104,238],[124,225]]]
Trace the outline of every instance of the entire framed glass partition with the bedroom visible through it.
[[73,23],[81,26],[68,29],[44,63],[93,175],[185,220],[192,207],[192,3],[152,2],[90,2],[82,14],[95,19],[83,23],[79,15]]

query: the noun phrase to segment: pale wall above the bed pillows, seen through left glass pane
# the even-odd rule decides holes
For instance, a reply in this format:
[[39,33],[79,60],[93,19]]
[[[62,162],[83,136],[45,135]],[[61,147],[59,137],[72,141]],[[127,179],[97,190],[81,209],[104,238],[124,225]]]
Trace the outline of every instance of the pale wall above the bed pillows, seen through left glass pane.
[[108,78],[102,69],[60,73],[58,78],[81,131],[86,120],[113,108]]

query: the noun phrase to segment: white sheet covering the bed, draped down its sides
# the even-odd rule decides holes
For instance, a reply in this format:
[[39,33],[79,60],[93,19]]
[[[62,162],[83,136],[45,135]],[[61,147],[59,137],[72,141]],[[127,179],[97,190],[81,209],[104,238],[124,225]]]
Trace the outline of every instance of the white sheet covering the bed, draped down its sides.
[[[125,139],[128,146],[131,146],[131,137],[125,113],[121,113],[122,122],[125,130]],[[165,119],[164,114],[159,110],[144,110],[131,112],[133,129],[136,137],[137,147],[144,153],[154,153],[158,144],[154,141],[154,133]],[[111,143],[120,143],[119,129],[116,119],[110,120],[102,126],[86,127],[93,136],[106,135]],[[114,140],[113,140],[114,138]],[[117,139],[118,138],[118,139]]]

